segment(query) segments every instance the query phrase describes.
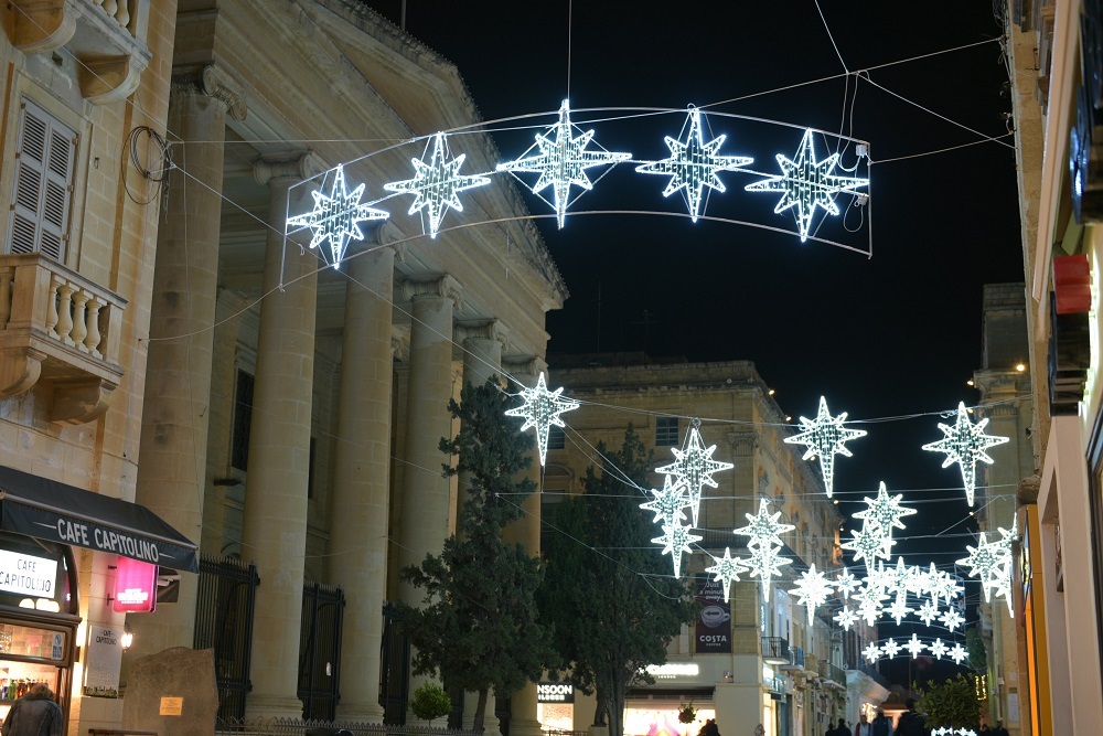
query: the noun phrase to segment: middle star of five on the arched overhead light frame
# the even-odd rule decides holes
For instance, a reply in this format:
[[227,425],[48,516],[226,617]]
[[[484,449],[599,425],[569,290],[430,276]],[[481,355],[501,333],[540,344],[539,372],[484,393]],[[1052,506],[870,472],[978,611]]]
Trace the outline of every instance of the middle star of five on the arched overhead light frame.
[[[555,199],[549,204],[555,207],[560,230],[567,216],[567,206],[571,202],[571,185],[587,191],[593,189],[586,170],[615,164],[618,161],[632,158],[631,153],[613,153],[600,146],[598,146],[600,150],[587,150],[586,147],[593,140],[593,131],[587,130],[574,136],[571,135],[574,128],[575,125],[570,121],[570,100],[565,99],[559,107],[559,121],[548,128],[548,135],[536,134],[536,142],[529,146],[521,158],[497,164],[499,171],[510,171],[514,175],[517,171],[538,173],[540,178],[532,186],[534,194],[539,195],[546,188],[552,186]],[[538,152],[532,152],[534,148],[538,149]],[[546,199],[544,201],[547,202]]]

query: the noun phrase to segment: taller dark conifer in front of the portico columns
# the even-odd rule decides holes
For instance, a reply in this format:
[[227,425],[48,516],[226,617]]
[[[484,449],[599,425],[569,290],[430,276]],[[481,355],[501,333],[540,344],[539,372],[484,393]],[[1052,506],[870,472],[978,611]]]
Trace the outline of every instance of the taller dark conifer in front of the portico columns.
[[473,727],[483,729],[491,689],[508,697],[526,681],[538,682],[552,664],[550,634],[537,620],[534,599],[543,570],[520,544],[502,541],[502,530],[521,518],[536,486],[520,473],[528,467],[532,437],[505,416],[510,401],[496,383],[463,387],[461,403],[448,403],[460,420],[457,436],[440,440],[456,456],[445,474],[463,473],[468,484],[457,534],[440,555],[401,570],[425,591],[422,607],[400,606],[416,652],[417,674],[440,673],[446,682],[479,693]]

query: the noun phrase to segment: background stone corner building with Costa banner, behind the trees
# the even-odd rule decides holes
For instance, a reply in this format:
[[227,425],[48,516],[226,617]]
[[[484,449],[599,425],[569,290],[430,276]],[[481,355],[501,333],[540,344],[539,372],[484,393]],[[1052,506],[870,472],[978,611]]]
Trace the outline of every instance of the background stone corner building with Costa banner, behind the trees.
[[[580,367],[575,367],[580,366]],[[542,516],[554,519],[564,494],[583,491],[586,468],[593,465],[599,441],[615,448],[631,423],[644,445],[655,451],[655,465],[667,465],[670,450],[681,449],[694,418],[700,419],[705,447],[713,458],[735,467],[715,473],[718,488],[706,488],[695,534],[705,538],[683,559],[690,575],[704,576],[710,555],[746,554],[732,530],[746,525],[761,499],[781,521],[795,529],[782,535],[784,555],[793,567],[837,569],[842,516],[824,491],[818,470],[801,460],[796,446],[783,440],[791,423],[747,361],[717,363],[650,362],[642,354],[564,358],[553,366],[549,385],[582,402],[565,415],[569,425],[548,450]],[[577,435],[578,439],[572,437]],[[662,488],[662,476],[652,476]],[[545,530],[545,533],[554,533]],[[661,530],[656,527],[656,535]],[[660,554],[656,546],[655,554]],[[888,696],[879,675],[861,670],[859,652],[877,638],[875,627],[844,632],[821,608],[808,625],[803,607],[788,590],[793,573],[772,582],[769,601],[757,578],[733,583],[730,600],[730,651],[705,653],[693,629],[668,648],[668,671],[656,685],[629,694],[625,728],[644,733],[649,724],[676,715],[679,702],[692,698],[703,722],[724,724],[761,719],[767,734],[814,736],[839,717],[856,722],[863,704],[876,706]],[[880,681],[880,682],[878,682]],[[756,718],[751,714],[757,715]],[[576,698],[574,728],[590,723],[592,704]],[[676,718],[673,718],[676,723]],[[700,724],[697,724],[699,727]],[[736,726],[728,726],[736,727]],[[695,726],[689,726],[694,732]]]

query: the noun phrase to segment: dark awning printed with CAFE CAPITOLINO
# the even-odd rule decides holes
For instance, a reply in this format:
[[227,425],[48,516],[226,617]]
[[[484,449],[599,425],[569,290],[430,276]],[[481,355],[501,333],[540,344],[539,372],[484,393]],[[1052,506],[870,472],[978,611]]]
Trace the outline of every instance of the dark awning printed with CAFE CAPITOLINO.
[[200,572],[196,545],[146,506],[3,466],[0,529]]

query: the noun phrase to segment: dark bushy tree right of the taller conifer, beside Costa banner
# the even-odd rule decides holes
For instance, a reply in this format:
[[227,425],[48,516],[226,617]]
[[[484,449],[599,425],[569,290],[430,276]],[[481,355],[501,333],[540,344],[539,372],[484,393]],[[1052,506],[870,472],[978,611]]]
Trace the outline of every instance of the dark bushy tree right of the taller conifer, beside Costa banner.
[[587,469],[586,492],[558,504],[537,599],[563,676],[596,692],[593,724],[608,716],[610,735],[622,736],[625,691],[653,682],[645,668],[666,661],[667,643],[693,620],[694,607],[639,508],[652,454],[631,425],[619,451],[603,442],[597,450],[601,467]]

